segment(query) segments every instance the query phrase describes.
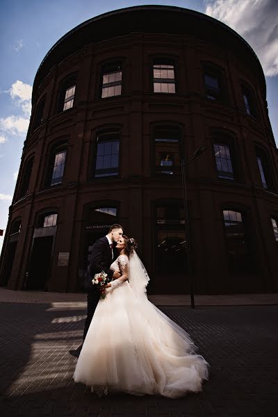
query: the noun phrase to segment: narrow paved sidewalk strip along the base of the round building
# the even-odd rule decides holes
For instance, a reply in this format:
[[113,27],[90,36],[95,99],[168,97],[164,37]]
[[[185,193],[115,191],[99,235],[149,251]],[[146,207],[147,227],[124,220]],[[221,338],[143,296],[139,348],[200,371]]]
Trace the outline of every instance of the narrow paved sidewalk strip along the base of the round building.
[[[190,295],[149,295],[157,306],[190,306]],[[0,288],[0,302],[47,304],[49,302],[84,303],[84,293],[46,293],[44,291],[12,291]],[[278,304],[278,293],[195,295],[195,306],[236,306]]]

